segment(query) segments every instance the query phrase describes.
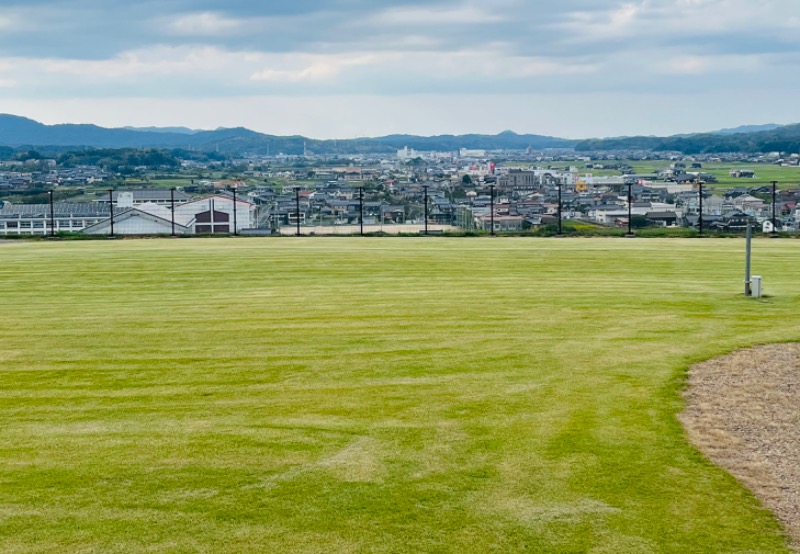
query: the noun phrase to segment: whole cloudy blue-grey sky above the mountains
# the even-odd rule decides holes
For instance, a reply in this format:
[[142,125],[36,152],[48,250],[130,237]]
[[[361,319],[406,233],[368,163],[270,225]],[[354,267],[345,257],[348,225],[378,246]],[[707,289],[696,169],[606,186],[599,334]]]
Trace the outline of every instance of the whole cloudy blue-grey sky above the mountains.
[[356,138],[800,122],[797,0],[0,0],[0,113]]

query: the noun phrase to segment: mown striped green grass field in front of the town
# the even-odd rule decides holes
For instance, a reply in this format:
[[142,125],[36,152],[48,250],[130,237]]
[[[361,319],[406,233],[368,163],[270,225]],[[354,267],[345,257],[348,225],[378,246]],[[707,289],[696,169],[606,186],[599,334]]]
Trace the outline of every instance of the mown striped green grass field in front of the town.
[[0,244],[0,552],[787,552],[685,371],[800,241]]

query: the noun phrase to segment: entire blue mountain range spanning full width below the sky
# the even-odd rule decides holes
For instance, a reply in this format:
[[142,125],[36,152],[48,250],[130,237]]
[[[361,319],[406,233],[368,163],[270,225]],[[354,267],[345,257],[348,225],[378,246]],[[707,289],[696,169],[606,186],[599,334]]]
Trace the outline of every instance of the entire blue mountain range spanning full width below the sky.
[[401,148],[454,152],[475,150],[577,151],[650,150],[685,154],[718,152],[800,152],[800,124],[746,125],[709,133],[671,137],[617,137],[570,140],[504,131],[498,135],[389,135],[376,138],[315,140],[302,136],[276,136],[243,127],[200,131],[186,127],[124,127],[108,129],[90,124],[44,125],[32,119],[0,114],[0,146],[13,148],[167,148],[230,155],[386,154]]

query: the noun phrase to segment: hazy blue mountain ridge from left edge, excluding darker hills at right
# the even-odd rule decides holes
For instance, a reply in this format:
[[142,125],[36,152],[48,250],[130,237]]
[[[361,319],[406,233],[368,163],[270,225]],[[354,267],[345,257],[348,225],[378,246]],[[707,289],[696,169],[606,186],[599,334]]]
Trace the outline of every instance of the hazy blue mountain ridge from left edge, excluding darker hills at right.
[[284,153],[394,155],[408,146],[419,151],[455,151],[459,148],[482,150],[520,150],[531,147],[572,148],[577,141],[540,135],[518,135],[505,131],[499,135],[441,135],[419,137],[391,135],[348,140],[315,140],[302,136],[275,136],[243,127],[196,131],[185,127],[126,127],[107,129],[97,125],[44,125],[16,115],[0,114],[0,145],[10,147],[92,147],[92,148],[183,148],[225,154],[269,155]]

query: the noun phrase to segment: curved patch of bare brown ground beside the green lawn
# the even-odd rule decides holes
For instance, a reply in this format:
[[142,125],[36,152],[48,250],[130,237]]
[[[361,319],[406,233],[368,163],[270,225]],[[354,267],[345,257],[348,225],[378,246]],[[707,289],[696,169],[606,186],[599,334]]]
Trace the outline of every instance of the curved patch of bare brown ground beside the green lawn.
[[772,510],[800,551],[800,344],[697,364],[685,398],[692,443]]

